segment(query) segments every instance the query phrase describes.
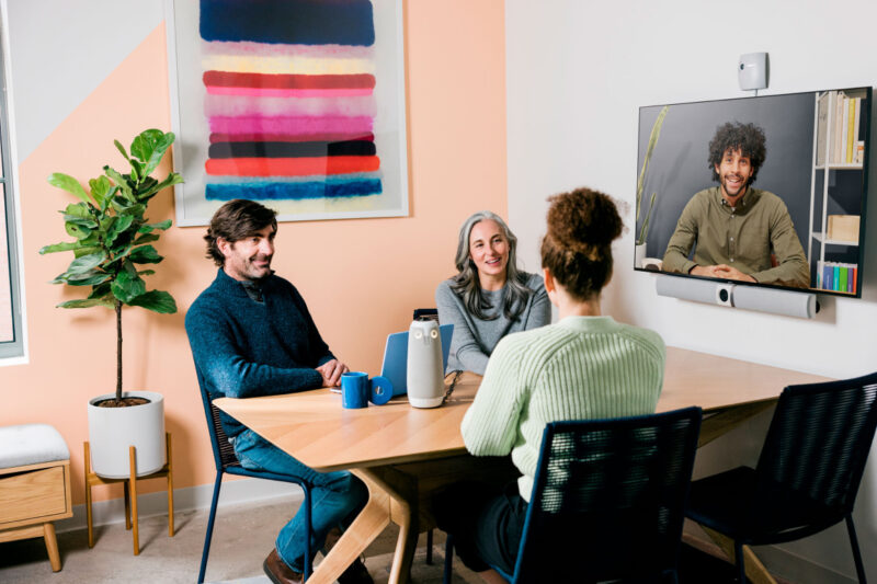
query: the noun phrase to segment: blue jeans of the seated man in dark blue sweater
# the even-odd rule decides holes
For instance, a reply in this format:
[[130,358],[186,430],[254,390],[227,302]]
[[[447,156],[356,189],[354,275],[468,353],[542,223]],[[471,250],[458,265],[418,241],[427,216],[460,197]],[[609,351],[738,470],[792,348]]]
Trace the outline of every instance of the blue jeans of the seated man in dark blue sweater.
[[[243,468],[266,470],[305,479],[311,484],[310,540],[311,558],[322,548],[326,534],[333,527],[348,527],[368,500],[365,484],[348,471],[317,472],[272,445],[251,430],[235,437],[235,454]],[[296,572],[305,566],[305,508],[299,507],[281,533],[274,546],[286,564]]]

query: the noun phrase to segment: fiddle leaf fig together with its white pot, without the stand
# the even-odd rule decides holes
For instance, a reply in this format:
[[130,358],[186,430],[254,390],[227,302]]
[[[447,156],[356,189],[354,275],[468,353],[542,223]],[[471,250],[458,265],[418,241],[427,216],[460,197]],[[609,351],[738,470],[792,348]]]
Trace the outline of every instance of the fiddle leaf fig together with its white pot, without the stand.
[[[147,290],[144,268],[161,262],[151,245],[171,220],[150,224],[149,201],[162,190],[182,182],[171,172],[159,181],[150,176],[158,168],[174,135],[147,129],[134,138],[130,156],[115,140],[128,162],[125,174],[106,165],[104,173],[89,181],[89,191],[72,176],[56,172],[49,184],[75,195],[79,202],[65,207],[64,227],[73,241],[46,245],[39,253],[73,252],[70,262],[53,284],[66,284],[89,291],[86,298],[67,300],[60,308],[102,307],[115,311],[116,390],[89,401],[89,442],[92,469],[101,477],[130,476],[128,446],[137,451],[137,474],[151,474],[164,466],[164,402],[152,391],[122,390],[122,308],[137,306],[153,312],[176,312],[173,297],[163,290]],[[88,463],[88,461],[87,461]]]

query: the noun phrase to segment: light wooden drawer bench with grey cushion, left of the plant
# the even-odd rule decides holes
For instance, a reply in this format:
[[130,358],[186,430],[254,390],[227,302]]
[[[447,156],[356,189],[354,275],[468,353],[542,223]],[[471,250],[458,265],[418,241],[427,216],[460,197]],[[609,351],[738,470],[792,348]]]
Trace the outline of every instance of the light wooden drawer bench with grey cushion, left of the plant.
[[0,543],[43,537],[58,572],[52,522],[72,515],[70,453],[58,431],[47,424],[0,427]]

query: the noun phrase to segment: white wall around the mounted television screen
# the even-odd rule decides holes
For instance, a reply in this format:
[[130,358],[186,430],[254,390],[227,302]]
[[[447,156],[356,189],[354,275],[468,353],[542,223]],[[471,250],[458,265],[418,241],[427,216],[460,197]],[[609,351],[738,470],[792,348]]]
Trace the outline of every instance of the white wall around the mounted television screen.
[[[628,202],[625,220],[634,222],[639,106],[744,96],[750,92],[738,88],[738,57],[761,50],[770,54],[771,79],[760,94],[877,82],[873,1],[855,0],[842,9],[810,0],[506,0],[505,5],[509,218],[529,270],[539,264],[549,194],[582,185],[604,191]],[[872,136],[877,138],[874,129]],[[870,165],[877,168],[873,152]],[[657,330],[672,346],[831,377],[877,370],[876,179],[873,170],[869,261],[859,300],[823,297],[818,317],[804,320],[658,297],[653,276],[628,267],[629,230],[616,245],[603,308],[618,320]],[[765,423],[751,427],[763,432]],[[733,436],[745,439],[743,434]],[[702,456],[733,454],[733,436]],[[751,444],[740,448],[744,458],[758,451]],[[873,579],[877,558],[868,550],[877,545],[876,499],[877,466],[872,463],[855,519]],[[824,582],[827,573],[838,581],[855,575],[844,529],[784,549],[839,573],[815,572],[800,562],[774,566],[795,582]]]

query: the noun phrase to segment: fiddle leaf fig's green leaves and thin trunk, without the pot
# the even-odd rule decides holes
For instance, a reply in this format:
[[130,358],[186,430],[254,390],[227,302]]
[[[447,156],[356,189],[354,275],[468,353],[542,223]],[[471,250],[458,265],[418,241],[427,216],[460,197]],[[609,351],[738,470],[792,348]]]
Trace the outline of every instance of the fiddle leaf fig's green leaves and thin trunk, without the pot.
[[106,403],[109,406],[125,405],[122,400],[122,307],[176,312],[176,302],[170,294],[146,289],[143,276],[155,271],[140,267],[163,259],[151,243],[171,226],[171,220],[150,224],[146,210],[149,201],[159,192],[183,182],[175,172],[161,181],[150,176],[173,140],[173,133],[147,129],[132,141],[130,154],[114,140],[128,162],[128,172],[123,174],[106,165],[101,176],[88,182],[88,192],[67,174],[56,172],[48,178],[49,184],[79,199],[60,211],[64,228],[75,241],[46,245],[39,253],[72,251],[73,261],[52,283],[91,288],[86,298],[67,300],[58,307],[101,306],[116,313],[116,403]]

